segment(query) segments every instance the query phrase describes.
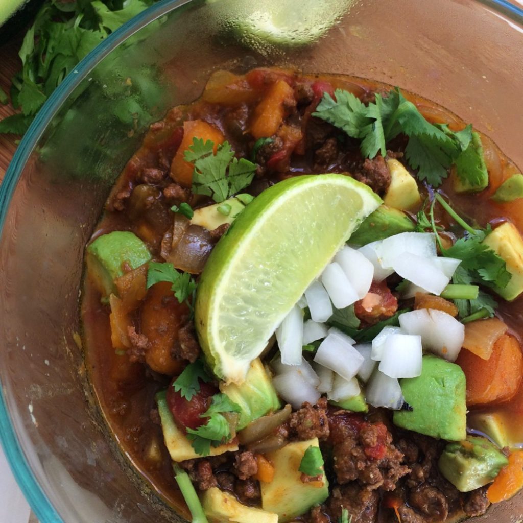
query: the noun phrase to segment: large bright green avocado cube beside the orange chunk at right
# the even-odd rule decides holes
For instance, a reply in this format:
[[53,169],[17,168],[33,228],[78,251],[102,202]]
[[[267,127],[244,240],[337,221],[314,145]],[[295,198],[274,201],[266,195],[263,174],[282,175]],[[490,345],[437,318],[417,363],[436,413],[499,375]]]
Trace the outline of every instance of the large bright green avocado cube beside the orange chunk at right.
[[421,375],[402,379],[400,386],[412,411],[395,411],[394,425],[449,441],[467,437],[465,374],[459,365],[424,356]]

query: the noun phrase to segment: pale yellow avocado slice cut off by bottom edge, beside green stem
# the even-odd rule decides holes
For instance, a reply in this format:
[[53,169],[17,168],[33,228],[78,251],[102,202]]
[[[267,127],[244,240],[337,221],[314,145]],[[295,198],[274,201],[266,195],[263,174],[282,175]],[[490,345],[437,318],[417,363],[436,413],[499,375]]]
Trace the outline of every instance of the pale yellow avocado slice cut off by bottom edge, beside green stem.
[[209,523],[278,523],[278,514],[248,507],[218,487],[206,490],[201,503]]

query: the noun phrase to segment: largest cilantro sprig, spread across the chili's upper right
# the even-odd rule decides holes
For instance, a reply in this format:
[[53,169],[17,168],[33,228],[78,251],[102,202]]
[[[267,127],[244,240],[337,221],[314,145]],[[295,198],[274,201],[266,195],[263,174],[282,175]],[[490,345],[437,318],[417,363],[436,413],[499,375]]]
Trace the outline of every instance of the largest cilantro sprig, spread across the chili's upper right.
[[[420,180],[434,187],[441,185],[448,168],[471,143],[472,126],[453,132],[446,125],[428,122],[397,87],[386,97],[376,94],[376,102],[367,106],[343,89],[336,89],[334,95],[335,99],[325,93],[313,116],[360,139],[363,157],[373,158],[378,153],[385,156],[386,144],[399,134],[406,135],[408,164],[418,169]],[[466,173],[462,176],[466,177]]]

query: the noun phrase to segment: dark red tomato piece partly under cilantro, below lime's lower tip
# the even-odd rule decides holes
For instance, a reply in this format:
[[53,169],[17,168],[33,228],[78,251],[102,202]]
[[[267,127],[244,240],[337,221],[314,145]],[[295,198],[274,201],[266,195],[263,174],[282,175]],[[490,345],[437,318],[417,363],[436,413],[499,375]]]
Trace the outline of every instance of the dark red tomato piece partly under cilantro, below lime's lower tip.
[[207,423],[207,419],[200,415],[207,411],[210,397],[217,392],[218,389],[212,383],[200,381],[200,391],[188,401],[179,392],[175,392],[171,383],[167,389],[167,405],[176,424],[183,429],[196,429]]

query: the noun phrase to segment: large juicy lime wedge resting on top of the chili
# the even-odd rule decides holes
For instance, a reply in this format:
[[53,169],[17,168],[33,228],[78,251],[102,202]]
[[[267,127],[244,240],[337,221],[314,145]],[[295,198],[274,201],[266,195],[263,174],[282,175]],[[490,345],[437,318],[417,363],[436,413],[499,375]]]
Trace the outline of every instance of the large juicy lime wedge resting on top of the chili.
[[266,189],[214,247],[200,277],[195,323],[220,379],[241,383],[276,327],[381,199],[340,174]]

